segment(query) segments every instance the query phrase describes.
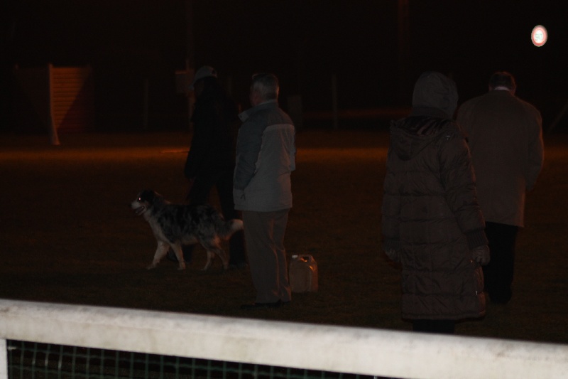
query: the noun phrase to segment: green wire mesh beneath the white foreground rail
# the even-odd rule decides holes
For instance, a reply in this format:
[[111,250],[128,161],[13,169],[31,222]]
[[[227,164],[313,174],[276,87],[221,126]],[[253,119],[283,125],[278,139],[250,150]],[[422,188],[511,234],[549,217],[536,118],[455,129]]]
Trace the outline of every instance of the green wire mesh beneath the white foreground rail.
[[8,377],[86,378],[376,378],[349,373],[159,356],[99,348],[7,341]]

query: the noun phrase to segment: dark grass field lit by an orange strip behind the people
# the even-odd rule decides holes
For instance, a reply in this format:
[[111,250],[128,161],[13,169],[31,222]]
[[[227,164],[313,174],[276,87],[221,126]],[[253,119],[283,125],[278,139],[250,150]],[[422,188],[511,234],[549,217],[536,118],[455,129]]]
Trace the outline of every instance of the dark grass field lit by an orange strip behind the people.
[[[190,134],[60,140],[0,136],[1,298],[410,330],[400,319],[400,273],[380,254],[385,132],[297,135],[286,247],[315,257],[320,290],[262,311],[239,309],[254,298],[248,270],[222,272],[217,260],[202,272],[201,247],[184,272],[169,261],[145,269],[155,240],[128,205],[142,188],[182,201]],[[545,144],[518,237],[513,301],[489,304],[483,320],[459,324],[458,334],[568,343],[568,138]]]

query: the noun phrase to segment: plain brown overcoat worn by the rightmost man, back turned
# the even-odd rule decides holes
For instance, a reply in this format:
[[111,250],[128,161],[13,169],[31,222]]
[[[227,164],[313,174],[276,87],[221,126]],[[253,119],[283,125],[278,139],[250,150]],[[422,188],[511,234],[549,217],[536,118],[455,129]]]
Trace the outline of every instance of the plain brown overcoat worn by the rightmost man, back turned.
[[544,148],[540,112],[508,90],[492,90],[459,107],[477,195],[486,221],[525,225],[525,193],[535,186]]

